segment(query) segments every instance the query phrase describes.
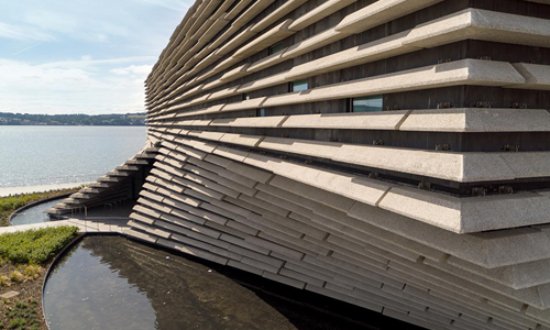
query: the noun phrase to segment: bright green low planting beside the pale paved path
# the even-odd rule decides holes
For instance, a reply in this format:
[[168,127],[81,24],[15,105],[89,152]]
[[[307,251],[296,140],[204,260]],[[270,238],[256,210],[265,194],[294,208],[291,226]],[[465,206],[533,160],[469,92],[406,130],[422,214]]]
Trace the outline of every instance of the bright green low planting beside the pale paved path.
[[55,227],[0,235],[0,256],[14,264],[43,265],[78,234],[77,227]]

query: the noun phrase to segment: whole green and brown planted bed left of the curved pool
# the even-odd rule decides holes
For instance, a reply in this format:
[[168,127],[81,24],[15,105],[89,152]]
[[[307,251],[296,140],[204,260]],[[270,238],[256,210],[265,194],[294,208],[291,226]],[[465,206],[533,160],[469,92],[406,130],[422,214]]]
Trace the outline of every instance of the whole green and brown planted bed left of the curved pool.
[[46,330],[42,284],[53,257],[78,234],[76,227],[55,227],[0,235],[0,329]]

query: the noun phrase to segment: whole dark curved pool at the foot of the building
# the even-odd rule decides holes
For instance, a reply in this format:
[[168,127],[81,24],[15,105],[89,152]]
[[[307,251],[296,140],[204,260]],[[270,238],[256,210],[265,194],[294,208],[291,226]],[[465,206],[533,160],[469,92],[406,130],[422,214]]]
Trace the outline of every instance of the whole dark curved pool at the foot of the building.
[[[324,297],[301,299],[302,293],[312,294],[121,237],[85,238],[54,270],[44,294],[52,330],[411,329],[344,302],[322,305]],[[346,312],[355,319],[342,316]],[[381,318],[387,327],[373,326]]]

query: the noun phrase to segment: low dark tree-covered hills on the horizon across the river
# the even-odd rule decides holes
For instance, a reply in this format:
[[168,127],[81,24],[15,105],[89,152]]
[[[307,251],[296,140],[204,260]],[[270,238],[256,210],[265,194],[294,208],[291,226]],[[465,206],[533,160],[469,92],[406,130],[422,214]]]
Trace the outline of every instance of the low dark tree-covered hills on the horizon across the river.
[[145,113],[89,116],[0,112],[0,125],[145,125]]

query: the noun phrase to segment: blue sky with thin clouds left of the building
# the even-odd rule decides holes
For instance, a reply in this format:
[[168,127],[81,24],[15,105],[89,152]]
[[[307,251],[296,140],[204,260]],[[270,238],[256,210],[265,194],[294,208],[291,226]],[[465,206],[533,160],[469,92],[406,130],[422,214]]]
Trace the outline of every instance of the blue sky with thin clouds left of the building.
[[0,0],[0,112],[144,111],[193,0]]

